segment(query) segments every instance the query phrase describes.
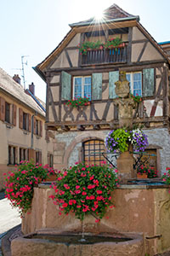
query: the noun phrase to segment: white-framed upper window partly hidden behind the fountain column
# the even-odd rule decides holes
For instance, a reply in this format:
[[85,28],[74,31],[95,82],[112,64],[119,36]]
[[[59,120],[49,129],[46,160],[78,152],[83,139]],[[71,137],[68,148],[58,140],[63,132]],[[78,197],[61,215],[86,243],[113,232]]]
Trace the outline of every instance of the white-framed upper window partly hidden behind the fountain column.
[[130,82],[130,90],[134,96],[142,96],[142,73],[127,73],[127,80]]

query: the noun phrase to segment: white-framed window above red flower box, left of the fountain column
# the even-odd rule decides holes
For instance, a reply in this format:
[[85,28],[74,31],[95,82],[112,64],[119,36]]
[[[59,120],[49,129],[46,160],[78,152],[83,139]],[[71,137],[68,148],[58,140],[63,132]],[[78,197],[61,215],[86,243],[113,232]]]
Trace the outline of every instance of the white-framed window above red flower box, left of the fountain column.
[[91,77],[75,77],[73,97],[88,97],[91,100],[92,86]]

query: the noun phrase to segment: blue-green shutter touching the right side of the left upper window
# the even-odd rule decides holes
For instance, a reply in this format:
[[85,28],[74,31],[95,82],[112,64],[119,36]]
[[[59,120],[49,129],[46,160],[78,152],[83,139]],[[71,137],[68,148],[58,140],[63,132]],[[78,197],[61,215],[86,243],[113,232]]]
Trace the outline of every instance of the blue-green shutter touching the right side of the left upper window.
[[102,99],[102,73],[93,73],[92,75],[93,100]]

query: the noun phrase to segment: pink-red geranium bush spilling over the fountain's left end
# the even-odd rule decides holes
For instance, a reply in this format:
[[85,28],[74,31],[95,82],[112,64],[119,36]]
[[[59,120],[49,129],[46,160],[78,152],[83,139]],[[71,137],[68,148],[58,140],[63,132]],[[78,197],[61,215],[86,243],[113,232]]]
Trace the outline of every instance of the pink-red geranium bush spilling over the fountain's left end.
[[20,216],[31,209],[33,198],[33,188],[48,176],[54,174],[52,168],[42,167],[40,164],[34,164],[32,161],[21,161],[21,165],[14,172],[8,172],[5,176],[5,197],[11,201],[13,207],[18,207]]

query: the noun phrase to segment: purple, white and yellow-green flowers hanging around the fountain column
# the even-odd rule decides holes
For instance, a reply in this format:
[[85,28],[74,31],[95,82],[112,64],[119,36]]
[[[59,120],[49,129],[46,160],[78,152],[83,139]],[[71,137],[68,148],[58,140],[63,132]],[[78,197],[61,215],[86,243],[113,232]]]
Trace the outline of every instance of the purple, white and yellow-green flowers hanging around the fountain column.
[[127,151],[129,144],[133,145],[133,150],[136,152],[144,151],[148,145],[147,136],[139,129],[127,131],[120,128],[110,131],[105,137],[105,147],[111,153],[116,151],[123,153]]

